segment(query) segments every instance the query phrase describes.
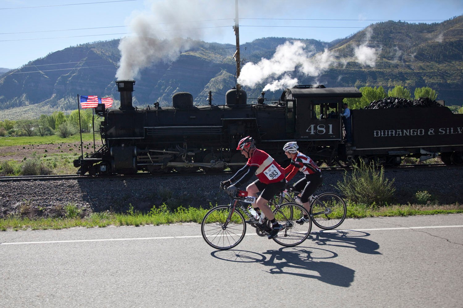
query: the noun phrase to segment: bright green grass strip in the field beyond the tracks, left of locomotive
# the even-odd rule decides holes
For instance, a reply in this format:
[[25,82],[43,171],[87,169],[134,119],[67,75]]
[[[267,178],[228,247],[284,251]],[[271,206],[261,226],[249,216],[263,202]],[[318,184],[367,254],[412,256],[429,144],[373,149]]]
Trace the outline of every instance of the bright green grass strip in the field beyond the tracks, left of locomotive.
[[[93,144],[93,133],[82,133],[83,142],[92,142]],[[11,145],[47,145],[55,143],[72,143],[81,142],[81,136],[75,134],[68,138],[61,138],[58,135],[53,136],[31,136],[31,137],[0,137],[0,146],[11,146]],[[95,143],[101,142],[100,135],[95,134]]]

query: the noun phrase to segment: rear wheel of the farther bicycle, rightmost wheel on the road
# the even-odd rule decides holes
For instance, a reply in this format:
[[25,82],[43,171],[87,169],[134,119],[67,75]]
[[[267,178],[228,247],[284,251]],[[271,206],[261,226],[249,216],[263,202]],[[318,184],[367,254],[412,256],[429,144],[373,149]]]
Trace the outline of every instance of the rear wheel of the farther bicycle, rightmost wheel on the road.
[[310,217],[320,229],[330,230],[343,223],[347,214],[344,200],[336,193],[319,194],[312,203]]

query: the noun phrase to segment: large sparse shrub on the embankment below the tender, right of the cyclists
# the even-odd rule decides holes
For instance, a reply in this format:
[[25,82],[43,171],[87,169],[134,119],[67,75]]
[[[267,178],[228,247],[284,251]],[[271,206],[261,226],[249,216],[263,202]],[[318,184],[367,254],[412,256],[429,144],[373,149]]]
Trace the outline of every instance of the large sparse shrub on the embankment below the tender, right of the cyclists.
[[338,181],[336,187],[344,192],[348,199],[367,205],[384,206],[392,199],[395,188],[394,180],[389,181],[384,176],[384,168],[375,163],[366,165],[363,160],[353,165],[348,175],[344,172],[343,181]]

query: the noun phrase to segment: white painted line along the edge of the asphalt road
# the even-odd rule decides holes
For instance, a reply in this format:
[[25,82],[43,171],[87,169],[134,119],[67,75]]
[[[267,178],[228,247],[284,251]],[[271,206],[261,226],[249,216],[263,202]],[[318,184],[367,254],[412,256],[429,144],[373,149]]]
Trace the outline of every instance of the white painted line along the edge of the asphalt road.
[[[427,226],[427,227],[398,227],[398,228],[375,228],[375,229],[335,229],[320,230],[311,233],[331,233],[331,232],[349,232],[349,231],[376,231],[376,230],[405,230],[405,229],[434,229],[434,228],[462,228],[463,225],[454,226]],[[246,233],[246,236],[257,235],[256,233]],[[132,237],[132,238],[109,238],[97,240],[69,240],[69,241],[41,241],[41,242],[12,242],[0,243],[0,245],[19,245],[19,244],[49,244],[49,243],[73,243],[73,242],[106,242],[106,241],[138,241],[138,240],[164,240],[171,238],[191,238],[202,236],[159,236],[159,237]]]

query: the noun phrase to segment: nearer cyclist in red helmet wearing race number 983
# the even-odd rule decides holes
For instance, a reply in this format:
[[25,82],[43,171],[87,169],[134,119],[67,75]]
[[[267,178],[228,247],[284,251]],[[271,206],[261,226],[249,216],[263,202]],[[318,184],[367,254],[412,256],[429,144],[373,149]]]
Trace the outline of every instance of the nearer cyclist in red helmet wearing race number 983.
[[[248,162],[229,180],[220,182],[220,187],[227,187],[227,193],[235,193],[238,190],[237,186],[243,185],[251,179],[253,174],[256,174],[257,181],[248,185],[246,191],[248,195],[253,197],[257,197],[257,193],[262,192],[257,198],[256,204],[252,204],[252,206],[257,213],[262,211],[269,218],[272,223],[269,239],[274,238],[283,227],[276,221],[267,202],[285,187],[284,169],[269,154],[257,149],[254,145],[254,139],[250,136],[238,142],[237,150],[240,150],[241,154],[248,158]],[[237,179],[239,180],[237,181]]]

